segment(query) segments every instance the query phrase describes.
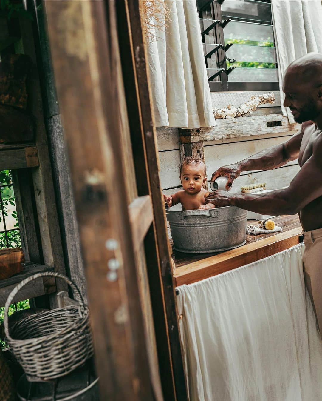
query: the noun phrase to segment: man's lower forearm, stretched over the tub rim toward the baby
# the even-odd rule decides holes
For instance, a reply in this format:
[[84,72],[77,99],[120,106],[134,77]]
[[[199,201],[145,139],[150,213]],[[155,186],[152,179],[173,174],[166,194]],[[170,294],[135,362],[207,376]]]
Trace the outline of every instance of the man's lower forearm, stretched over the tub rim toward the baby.
[[266,194],[236,194],[231,197],[231,205],[264,215],[293,215],[297,213],[295,200],[290,199],[285,190],[275,190]]

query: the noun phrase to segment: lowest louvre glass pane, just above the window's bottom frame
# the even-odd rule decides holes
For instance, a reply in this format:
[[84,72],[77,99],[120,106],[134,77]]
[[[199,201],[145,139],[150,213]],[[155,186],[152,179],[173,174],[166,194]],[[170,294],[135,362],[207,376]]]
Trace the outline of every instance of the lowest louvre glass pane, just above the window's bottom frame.
[[237,67],[228,75],[232,82],[278,82],[278,70],[270,68]]

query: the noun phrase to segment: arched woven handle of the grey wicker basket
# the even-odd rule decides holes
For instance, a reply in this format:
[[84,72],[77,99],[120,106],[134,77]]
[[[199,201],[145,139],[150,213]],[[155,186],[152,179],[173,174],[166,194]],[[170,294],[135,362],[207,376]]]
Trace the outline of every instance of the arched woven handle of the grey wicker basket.
[[85,305],[85,302],[83,300],[81,292],[78,290],[78,287],[76,286],[76,284],[74,282],[72,282],[64,274],[55,273],[54,271],[44,271],[42,273],[36,273],[34,275],[31,275],[31,276],[25,278],[24,280],[22,280],[22,282],[20,282],[18,285],[16,285],[16,287],[8,295],[6,304],[4,305],[4,319],[3,319],[4,332],[6,334],[6,337],[9,340],[11,339],[10,334],[9,334],[9,322],[8,322],[9,306],[11,305],[12,300],[14,299],[16,294],[22,289],[22,287],[24,287],[26,284],[30,283],[31,281],[35,280],[36,278],[40,278],[40,277],[57,277],[57,278],[64,280],[68,284],[68,286],[70,286],[72,288],[73,293],[76,294],[76,298],[80,302],[80,308],[83,309],[85,306],[87,306],[87,305]]

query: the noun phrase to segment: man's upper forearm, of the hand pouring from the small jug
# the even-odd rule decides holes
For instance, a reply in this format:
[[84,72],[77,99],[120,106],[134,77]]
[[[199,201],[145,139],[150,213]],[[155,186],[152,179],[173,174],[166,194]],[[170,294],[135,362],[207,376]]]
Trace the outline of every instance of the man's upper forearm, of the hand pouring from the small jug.
[[284,144],[272,146],[237,163],[240,171],[272,170],[284,166],[289,157]]

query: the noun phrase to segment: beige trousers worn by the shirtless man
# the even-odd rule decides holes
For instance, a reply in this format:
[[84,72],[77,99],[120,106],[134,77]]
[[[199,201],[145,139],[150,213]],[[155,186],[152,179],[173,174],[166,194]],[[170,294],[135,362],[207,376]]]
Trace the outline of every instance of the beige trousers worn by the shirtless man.
[[304,234],[304,280],[313,304],[322,336],[322,228],[303,231]]

